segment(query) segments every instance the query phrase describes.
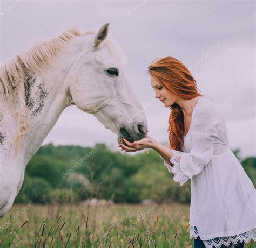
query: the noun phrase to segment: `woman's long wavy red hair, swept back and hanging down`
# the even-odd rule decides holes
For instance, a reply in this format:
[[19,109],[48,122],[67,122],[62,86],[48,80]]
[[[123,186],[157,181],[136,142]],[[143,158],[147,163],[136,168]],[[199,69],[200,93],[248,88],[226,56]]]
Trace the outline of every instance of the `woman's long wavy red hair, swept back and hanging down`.
[[[157,58],[148,67],[148,73],[172,94],[184,100],[189,100],[199,93],[197,82],[191,72],[178,59],[167,56]],[[200,91],[201,92],[201,91]],[[172,111],[169,117],[169,147],[181,151],[183,146],[183,136],[185,134],[184,115],[178,104],[174,103],[169,107]]]

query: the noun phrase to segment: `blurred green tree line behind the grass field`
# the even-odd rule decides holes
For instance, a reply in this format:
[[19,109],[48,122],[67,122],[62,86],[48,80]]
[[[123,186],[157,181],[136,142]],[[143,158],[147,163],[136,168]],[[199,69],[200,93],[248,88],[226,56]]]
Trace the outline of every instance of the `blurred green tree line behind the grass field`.
[[[180,187],[159,154],[148,151],[129,155],[105,144],[42,146],[26,166],[15,203],[70,203],[93,197],[115,203],[189,203],[190,180]],[[241,161],[239,150],[233,152],[255,187],[256,157]]]

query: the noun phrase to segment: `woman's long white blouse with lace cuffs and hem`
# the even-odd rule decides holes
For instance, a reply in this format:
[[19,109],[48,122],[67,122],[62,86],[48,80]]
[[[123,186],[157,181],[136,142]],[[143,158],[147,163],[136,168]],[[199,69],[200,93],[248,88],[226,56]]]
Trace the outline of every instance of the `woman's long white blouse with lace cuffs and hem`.
[[191,179],[190,239],[206,248],[256,241],[256,190],[228,144],[223,116],[205,96],[192,111],[181,151],[171,149],[173,181]]

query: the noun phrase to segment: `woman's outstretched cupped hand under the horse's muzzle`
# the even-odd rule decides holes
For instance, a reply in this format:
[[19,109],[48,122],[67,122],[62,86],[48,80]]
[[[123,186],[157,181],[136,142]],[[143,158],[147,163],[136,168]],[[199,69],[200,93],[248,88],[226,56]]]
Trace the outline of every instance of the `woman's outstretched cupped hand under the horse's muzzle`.
[[123,141],[125,142],[126,145],[120,143],[119,147],[121,147],[121,151],[125,151],[125,152],[137,152],[146,148],[153,148],[153,144],[156,142],[156,140],[152,139],[149,136],[141,140],[134,141],[133,143],[130,143],[125,138],[123,138]]

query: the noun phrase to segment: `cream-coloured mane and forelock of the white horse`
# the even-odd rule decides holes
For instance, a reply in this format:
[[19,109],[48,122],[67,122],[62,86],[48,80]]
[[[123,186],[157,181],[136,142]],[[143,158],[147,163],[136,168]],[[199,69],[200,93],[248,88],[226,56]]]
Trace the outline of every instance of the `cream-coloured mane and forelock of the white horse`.
[[[29,133],[30,129],[25,103],[26,72],[43,74],[46,68],[55,66],[60,55],[68,51],[70,40],[86,34],[96,34],[97,31],[97,29],[92,29],[80,33],[78,27],[70,27],[55,38],[34,41],[31,48],[22,51],[1,65],[0,107],[4,108],[5,103],[8,102],[14,113],[17,107],[15,107],[13,93],[17,90],[18,132],[15,137],[15,155],[17,155],[21,139]],[[112,39],[111,34],[108,34],[102,43],[109,49],[120,66],[126,67],[125,55],[119,44]]]

